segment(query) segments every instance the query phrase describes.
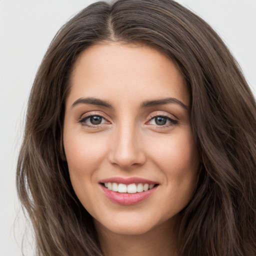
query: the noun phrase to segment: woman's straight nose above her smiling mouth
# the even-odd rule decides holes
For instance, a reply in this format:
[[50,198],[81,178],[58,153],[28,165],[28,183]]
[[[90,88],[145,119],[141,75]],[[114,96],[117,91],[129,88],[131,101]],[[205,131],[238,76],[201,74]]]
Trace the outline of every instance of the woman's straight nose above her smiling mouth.
[[145,162],[141,135],[132,124],[123,123],[116,128],[113,134],[109,161],[122,169],[140,166]]

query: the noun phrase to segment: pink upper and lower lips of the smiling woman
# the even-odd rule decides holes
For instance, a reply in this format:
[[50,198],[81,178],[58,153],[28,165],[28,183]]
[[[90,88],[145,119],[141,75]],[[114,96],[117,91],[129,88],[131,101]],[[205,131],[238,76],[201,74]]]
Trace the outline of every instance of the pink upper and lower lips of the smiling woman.
[[[116,182],[116,183],[122,183],[122,184],[132,184],[132,183],[147,183],[147,184],[159,184],[158,182],[139,178],[139,177],[130,177],[130,178],[122,178],[122,177],[111,177],[102,179],[99,181],[100,183],[107,183],[107,182]],[[151,189],[143,192],[137,192],[137,193],[119,193],[112,190],[107,189],[103,184],[100,184],[101,189],[103,190],[105,196],[112,202],[122,205],[132,205],[139,202],[144,201],[149,196],[151,196],[155,190],[157,189],[157,186],[152,187]]]

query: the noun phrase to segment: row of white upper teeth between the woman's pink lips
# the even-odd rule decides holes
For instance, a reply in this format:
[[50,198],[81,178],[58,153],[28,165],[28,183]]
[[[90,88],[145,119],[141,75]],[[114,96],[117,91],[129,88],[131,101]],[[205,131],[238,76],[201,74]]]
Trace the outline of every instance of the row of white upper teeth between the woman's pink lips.
[[151,189],[154,187],[154,184],[147,184],[147,183],[138,183],[137,185],[135,183],[132,184],[122,184],[122,183],[116,183],[116,182],[107,182],[104,183],[104,186],[112,191],[119,192],[119,193],[136,193],[136,192],[143,192],[147,191],[148,189]]

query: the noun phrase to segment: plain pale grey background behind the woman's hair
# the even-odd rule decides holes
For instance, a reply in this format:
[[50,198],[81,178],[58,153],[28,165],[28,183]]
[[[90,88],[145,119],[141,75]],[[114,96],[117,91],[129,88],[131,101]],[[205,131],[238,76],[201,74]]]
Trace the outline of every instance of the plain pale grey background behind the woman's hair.
[[[35,72],[59,27],[95,0],[0,0],[0,256],[21,255],[15,165]],[[256,0],[178,0],[220,34],[256,94]],[[15,224],[14,224],[15,223]],[[15,236],[14,236],[15,232]],[[29,227],[26,233],[29,236]],[[29,241],[32,243],[32,238]],[[29,244],[25,255],[32,255]]]

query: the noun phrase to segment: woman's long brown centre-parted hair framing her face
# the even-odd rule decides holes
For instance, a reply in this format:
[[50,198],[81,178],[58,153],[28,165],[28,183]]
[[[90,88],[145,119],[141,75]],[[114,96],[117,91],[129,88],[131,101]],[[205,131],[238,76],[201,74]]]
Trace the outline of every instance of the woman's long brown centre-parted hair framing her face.
[[109,40],[155,47],[177,63],[190,91],[201,167],[179,213],[178,255],[256,255],[256,103],[219,36],[172,0],[93,3],[49,45],[31,89],[16,176],[37,255],[103,254],[70,183],[62,125],[72,64],[89,45]]

